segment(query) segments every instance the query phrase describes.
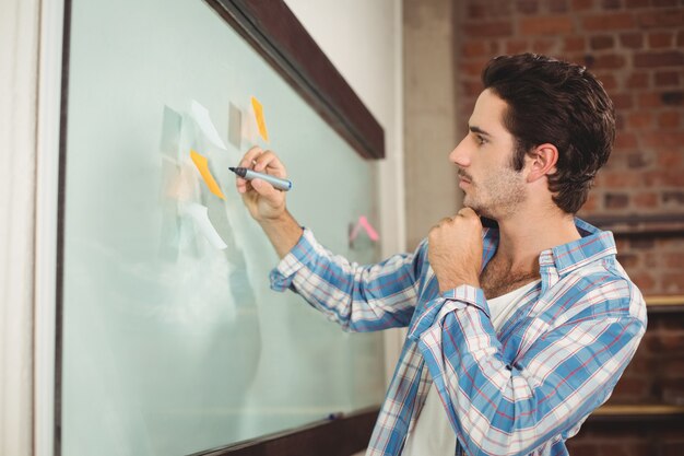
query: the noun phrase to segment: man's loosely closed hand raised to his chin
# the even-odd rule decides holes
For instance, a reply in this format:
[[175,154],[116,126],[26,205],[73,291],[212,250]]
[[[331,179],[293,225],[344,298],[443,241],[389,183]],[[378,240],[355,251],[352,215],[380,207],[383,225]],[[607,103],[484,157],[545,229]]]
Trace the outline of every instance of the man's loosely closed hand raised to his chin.
[[437,276],[439,291],[468,284],[480,288],[482,222],[470,208],[444,219],[427,236],[427,258]]

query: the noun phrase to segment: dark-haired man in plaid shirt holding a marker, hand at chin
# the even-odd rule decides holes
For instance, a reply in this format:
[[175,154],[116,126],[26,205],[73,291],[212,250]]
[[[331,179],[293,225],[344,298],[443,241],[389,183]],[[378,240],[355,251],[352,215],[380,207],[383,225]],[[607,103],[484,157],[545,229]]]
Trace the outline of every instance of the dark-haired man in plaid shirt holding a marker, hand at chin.
[[[567,454],[646,329],[612,233],[574,218],[613,145],[605,91],[535,55],[495,58],[482,80],[449,155],[464,208],[413,254],[351,265],[299,226],[283,192],[237,179],[283,258],[274,289],[346,330],[409,327],[367,455]],[[252,165],[285,176],[270,151],[247,152],[240,166]]]

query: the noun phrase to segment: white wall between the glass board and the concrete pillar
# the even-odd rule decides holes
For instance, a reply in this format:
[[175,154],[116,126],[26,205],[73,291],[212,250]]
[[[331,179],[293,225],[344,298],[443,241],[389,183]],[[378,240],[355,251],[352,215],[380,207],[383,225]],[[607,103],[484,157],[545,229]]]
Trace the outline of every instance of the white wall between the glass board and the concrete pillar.
[[[385,129],[378,163],[382,256],[405,249],[401,0],[285,0]],[[389,381],[403,331],[385,335]]]

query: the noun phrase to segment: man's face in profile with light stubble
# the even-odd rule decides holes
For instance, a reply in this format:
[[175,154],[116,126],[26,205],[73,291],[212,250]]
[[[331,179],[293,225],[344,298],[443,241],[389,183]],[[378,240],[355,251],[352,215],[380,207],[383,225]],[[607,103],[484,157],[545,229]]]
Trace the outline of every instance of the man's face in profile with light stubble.
[[449,155],[459,167],[463,206],[499,220],[526,199],[524,177],[512,168],[515,139],[503,124],[507,105],[490,90],[477,97],[469,132]]

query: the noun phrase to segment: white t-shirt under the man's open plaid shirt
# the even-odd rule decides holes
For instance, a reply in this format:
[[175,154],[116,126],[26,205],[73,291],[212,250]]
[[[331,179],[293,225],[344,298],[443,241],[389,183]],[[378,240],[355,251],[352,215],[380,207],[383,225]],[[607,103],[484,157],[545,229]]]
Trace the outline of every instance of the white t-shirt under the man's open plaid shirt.
[[[498,331],[503,324],[522,304],[522,296],[535,287],[540,280],[520,287],[498,297],[487,300],[492,325]],[[433,385],[427,391],[425,404],[421,410],[413,431],[406,436],[402,456],[453,456],[456,451],[456,433],[447,418],[437,387]]]

